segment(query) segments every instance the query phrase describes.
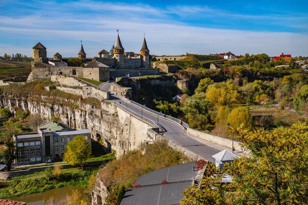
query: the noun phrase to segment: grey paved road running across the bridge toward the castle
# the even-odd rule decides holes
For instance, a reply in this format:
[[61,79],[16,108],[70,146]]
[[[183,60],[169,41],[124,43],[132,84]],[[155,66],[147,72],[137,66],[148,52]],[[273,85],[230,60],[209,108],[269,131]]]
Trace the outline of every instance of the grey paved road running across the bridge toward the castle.
[[[112,83],[112,82],[110,82]],[[105,83],[104,85],[100,86],[99,89],[109,91],[110,88],[110,83]],[[144,110],[142,111],[141,108],[130,104],[129,102],[127,103],[126,100],[123,100],[122,97],[116,96],[114,94],[110,95],[110,100],[111,101],[117,101],[121,102],[122,105],[126,106],[127,108],[138,113],[142,114],[144,117],[148,117],[149,119],[152,119],[157,122],[165,129],[165,132],[162,134],[164,137],[168,138],[174,143],[177,143],[180,146],[185,147],[186,149],[206,158],[212,163],[215,163],[215,159],[212,157],[214,154],[220,152],[224,148],[228,147],[222,147],[222,146],[215,146],[213,143],[205,142],[199,139],[196,139],[195,137],[192,137],[184,132],[181,127],[178,125],[165,120],[163,118],[158,118],[156,115],[153,115],[151,113],[145,112]],[[215,146],[215,147],[214,147]]]

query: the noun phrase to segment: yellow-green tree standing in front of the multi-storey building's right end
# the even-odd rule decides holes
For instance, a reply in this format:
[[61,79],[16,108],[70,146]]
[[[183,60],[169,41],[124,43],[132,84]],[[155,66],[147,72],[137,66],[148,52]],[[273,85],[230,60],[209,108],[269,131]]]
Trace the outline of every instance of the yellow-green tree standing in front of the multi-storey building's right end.
[[63,161],[70,165],[79,165],[83,169],[86,160],[91,156],[91,147],[85,136],[74,137],[66,146]]

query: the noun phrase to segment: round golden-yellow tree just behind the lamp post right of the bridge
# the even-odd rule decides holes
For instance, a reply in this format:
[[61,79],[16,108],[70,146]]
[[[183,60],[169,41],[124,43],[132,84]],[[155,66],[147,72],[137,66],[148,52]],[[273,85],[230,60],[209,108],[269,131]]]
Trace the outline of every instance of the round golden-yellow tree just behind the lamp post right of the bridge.
[[247,107],[234,108],[227,117],[227,122],[231,127],[240,127],[241,125],[247,129],[252,128],[252,117]]

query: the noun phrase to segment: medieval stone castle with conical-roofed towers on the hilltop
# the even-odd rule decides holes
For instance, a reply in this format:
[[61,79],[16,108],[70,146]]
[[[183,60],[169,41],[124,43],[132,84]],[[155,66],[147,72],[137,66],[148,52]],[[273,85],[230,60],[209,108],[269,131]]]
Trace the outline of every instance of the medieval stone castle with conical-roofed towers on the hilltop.
[[150,50],[145,37],[140,55],[135,56],[133,52],[124,53],[118,33],[113,49],[113,57],[109,57],[109,52],[102,50],[97,57],[92,58],[91,62],[89,62],[91,59],[87,59],[87,54],[81,42],[78,59],[85,63],[84,67],[67,66],[59,53],[56,53],[53,59],[48,59],[46,47],[40,42],[32,48],[32,54],[32,72],[27,81],[50,78],[51,75],[55,74],[83,76],[96,81],[107,81],[123,76],[159,75],[159,69],[151,66]]

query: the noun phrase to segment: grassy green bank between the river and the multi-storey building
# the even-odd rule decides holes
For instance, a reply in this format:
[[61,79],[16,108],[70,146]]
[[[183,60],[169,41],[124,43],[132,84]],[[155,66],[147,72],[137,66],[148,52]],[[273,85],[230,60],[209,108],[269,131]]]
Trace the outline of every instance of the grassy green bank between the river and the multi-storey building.
[[[60,169],[59,169],[60,170]],[[11,181],[0,182],[0,199],[44,192],[64,186],[87,187],[92,175],[96,175],[98,167],[69,168],[55,172],[46,170],[36,175],[13,177]]]

